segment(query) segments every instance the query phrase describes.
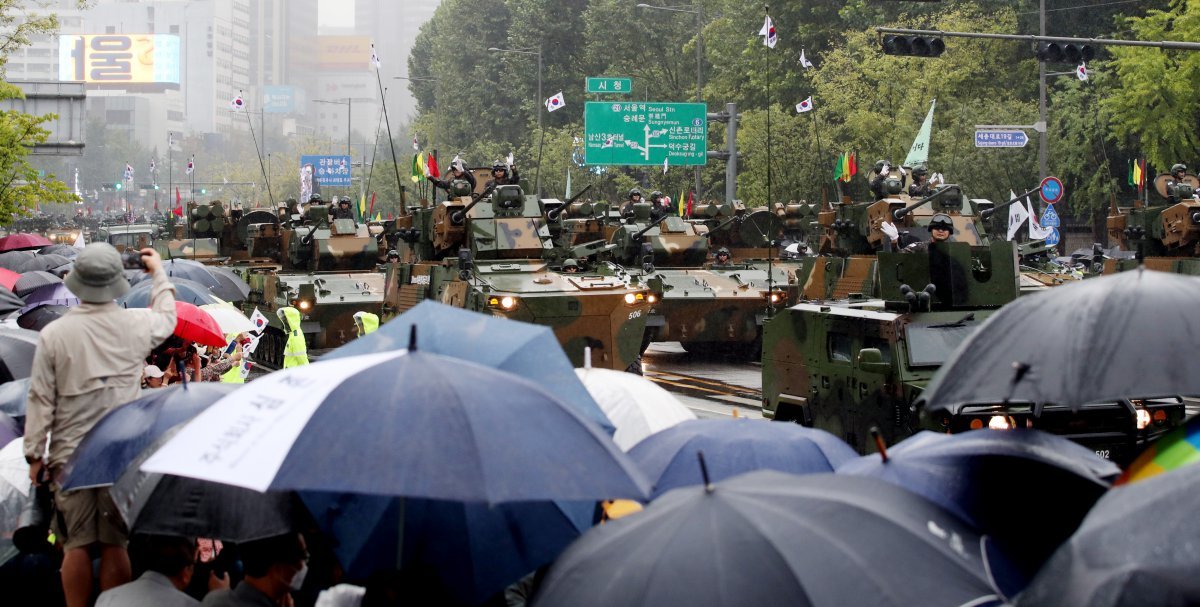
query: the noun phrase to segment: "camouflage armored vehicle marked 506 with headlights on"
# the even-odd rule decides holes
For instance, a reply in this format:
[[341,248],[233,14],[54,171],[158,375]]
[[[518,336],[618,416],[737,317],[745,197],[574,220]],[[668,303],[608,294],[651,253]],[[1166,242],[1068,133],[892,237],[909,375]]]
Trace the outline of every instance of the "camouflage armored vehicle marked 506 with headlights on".
[[565,256],[550,235],[551,204],[562,208],[515,185],[467,187],[397,218],[401,260],[386,266],[384,318],[432,299],[550,326],[577,366],[590,347],[594,366],[640,372],[649,290],[607,262],[578,274],[556,271]]

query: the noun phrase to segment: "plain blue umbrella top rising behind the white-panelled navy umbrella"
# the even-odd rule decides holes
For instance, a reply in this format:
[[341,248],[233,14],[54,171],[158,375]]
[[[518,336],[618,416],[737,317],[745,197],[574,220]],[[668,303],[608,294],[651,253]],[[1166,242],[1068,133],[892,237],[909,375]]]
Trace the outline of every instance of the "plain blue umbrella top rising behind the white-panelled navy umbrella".
[[616,429],[580,383],[554,332],[546,326],[422,301],[373,333],[359,337],[322,359],[404,348],[413,326],[421,327],[422,350],[521,375],[557,395],[610,434]]

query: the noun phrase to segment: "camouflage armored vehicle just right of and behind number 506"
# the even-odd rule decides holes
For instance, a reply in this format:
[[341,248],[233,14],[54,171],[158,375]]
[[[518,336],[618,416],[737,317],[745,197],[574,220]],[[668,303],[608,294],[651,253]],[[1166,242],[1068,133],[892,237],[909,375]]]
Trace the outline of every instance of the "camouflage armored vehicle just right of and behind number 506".
[[[634,205],[634,216],[611,236],[612,254],[626,268],[641,268],[653,290],[654,306],[647,320],[644,343],[679,342],[692,353],[732,353],[757,357],[762,321],[774,307],[797,300],[799,289],[792,271],[796,262],[784,259],[731,259],[709,264],[713,240],[703,221],[674,215],[652,218],[647,203]],[[774,218],[762,211],[751,216]],[[733,221],[731,220],[731,224]],[[744,221],[740,226],[750,226]],[[764,223],[770,229],[769,220]],[[755,230],[760,226],[755,224]],[[737,230],[728,230],[737,232]],[[736,251],[767,252],[767,238],[736,238]],[[727,241],[728,241],[727,240]],[[727,247],[721,247],[726,250]],[[732,253],[731,253],[732,254]]]

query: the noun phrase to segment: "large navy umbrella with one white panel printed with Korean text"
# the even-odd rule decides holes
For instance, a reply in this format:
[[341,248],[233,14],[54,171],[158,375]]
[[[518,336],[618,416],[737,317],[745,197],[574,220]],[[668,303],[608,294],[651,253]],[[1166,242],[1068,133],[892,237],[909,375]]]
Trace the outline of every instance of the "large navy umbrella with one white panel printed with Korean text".
[[536,385],[412,349],[262,377],[197,415],[144,469],[257,491],[488,504],[647,487],[607,435]]

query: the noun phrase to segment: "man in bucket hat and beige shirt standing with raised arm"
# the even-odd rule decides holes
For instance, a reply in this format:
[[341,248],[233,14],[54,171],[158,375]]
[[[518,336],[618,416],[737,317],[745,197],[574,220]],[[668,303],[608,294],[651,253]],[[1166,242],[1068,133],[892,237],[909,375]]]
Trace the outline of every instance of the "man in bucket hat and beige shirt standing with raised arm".
[[101,590],[128,582],[131,572],[128,531],[108,488],[64,492],[62,465],[109,409],[138,397],[146,355],[175,330],[175,292],[158,253],[143,248],[140,258],[127,254],[154,277],[150,309],[126,309],[113,301],[130,290],[121,254],[94,242],[64,280],[83,304],[42,330],[34,354],[25,459],[30,479],[50,482],[54,492],[68,607],[83,607],[91,596],[92,546],[100,551]]

